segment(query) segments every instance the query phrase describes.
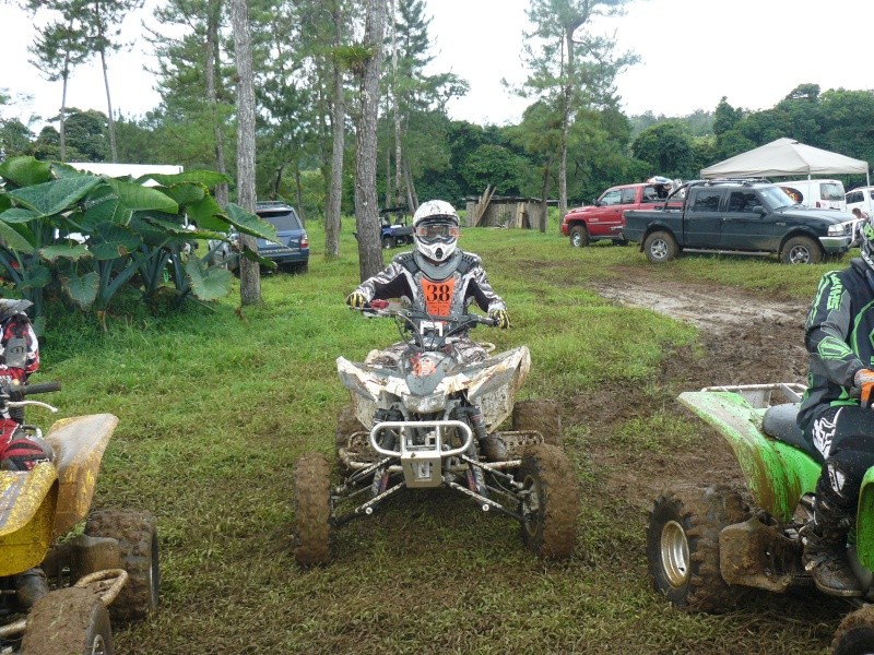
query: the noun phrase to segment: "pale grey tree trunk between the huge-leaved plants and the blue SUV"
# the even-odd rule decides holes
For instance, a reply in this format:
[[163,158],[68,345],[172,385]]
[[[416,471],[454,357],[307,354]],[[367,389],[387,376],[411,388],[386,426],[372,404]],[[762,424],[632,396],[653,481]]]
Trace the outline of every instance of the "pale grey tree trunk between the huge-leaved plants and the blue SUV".
[[[255,82],[247,0],[231,0],[234,45],[237,58],[237,202],[255,212]],[[258,251],[256,238],[240,235],[243,247]],[[261,302],[261,275],[258,262],[240,258],[240,303]]]

